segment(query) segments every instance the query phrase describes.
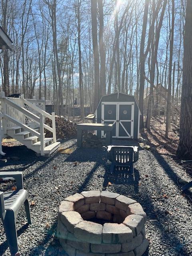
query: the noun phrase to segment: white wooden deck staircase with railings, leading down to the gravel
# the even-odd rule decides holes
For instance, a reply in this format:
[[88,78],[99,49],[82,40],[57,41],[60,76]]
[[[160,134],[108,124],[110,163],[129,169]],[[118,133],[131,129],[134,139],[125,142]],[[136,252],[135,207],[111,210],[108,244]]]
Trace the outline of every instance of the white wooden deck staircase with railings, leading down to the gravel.
[[[7,98],[3,92],[0,102],[1,139],[10,136],[41,156],[49,156],[60,146],[56,142],[54,112],[50,115],[24,98]],[[44,124],[45,117],[52,120],[52,127]],[[51,138],[46,138],[45,130],[52,132]],[[0,154],[4,155],[1,147]]]

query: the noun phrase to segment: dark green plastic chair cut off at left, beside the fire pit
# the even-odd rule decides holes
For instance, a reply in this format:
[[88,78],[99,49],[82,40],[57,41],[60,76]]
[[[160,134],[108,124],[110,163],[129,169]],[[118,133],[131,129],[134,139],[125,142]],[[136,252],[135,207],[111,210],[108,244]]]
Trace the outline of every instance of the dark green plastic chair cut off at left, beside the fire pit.
[[2,218],[10,253],[15,256],[18,252],[16,217],[23,204],[28,224],[31,224],[28,192],[23,189],[22,172],[0,172],[0,178],[14,178],[16,180],[16,190],[0,192],[0,217]]

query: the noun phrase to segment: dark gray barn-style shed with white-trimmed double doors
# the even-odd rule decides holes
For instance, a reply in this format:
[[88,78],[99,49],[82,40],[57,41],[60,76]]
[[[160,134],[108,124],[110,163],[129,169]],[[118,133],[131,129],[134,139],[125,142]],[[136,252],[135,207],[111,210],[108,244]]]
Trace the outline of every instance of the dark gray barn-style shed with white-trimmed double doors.
[[[139,120],[141,112],[134,96],[116,92],[102,96],[95,111],[96,122],[114,124],[113,138],[139,137]],[[99,137],[104,137],[104,132],[98,132]]]

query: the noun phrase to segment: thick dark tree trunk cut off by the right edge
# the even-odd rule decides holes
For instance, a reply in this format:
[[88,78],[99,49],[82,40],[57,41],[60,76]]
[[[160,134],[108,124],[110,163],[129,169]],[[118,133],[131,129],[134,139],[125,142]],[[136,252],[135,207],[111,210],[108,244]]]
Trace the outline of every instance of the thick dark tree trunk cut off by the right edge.
[[184,33],[183,82],[181,95],[178,158],[192,159],[192,1],[187,0]]

